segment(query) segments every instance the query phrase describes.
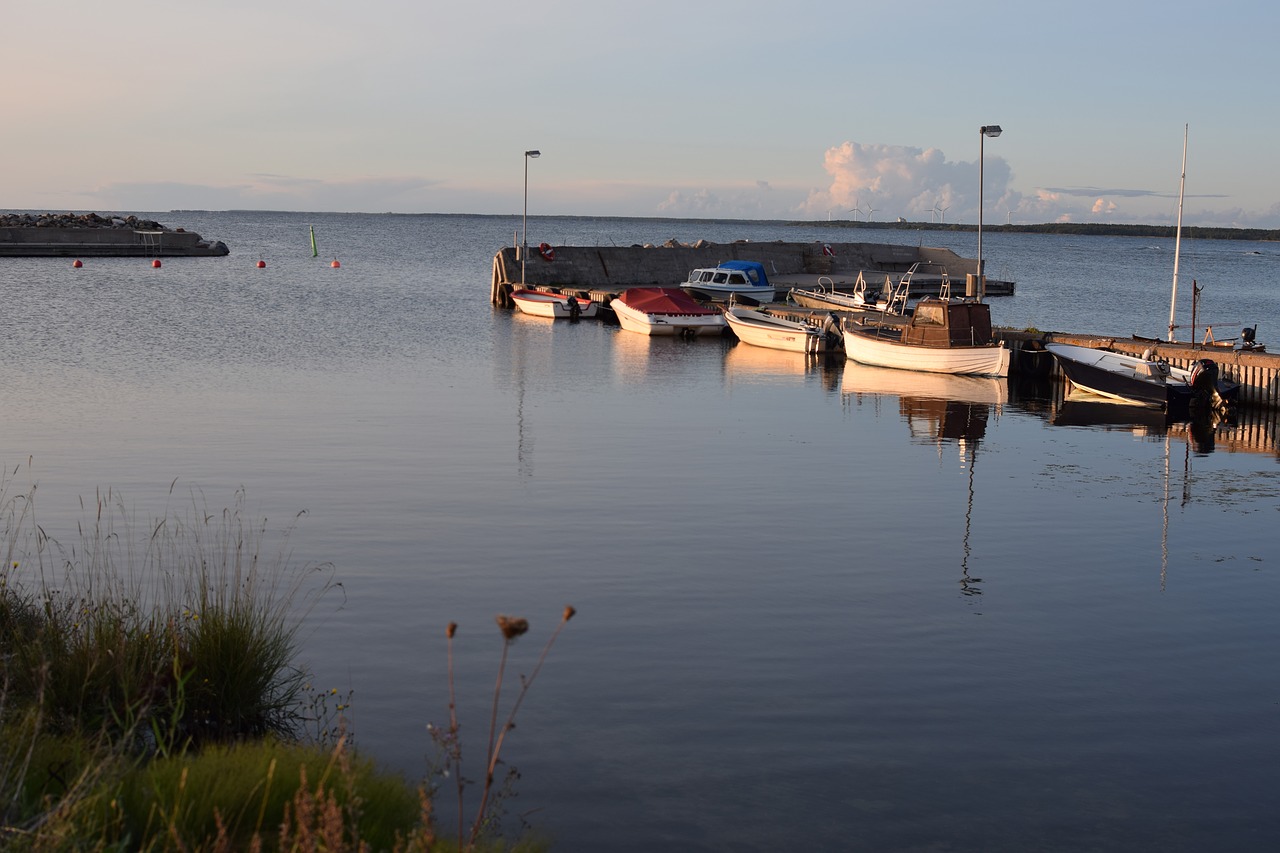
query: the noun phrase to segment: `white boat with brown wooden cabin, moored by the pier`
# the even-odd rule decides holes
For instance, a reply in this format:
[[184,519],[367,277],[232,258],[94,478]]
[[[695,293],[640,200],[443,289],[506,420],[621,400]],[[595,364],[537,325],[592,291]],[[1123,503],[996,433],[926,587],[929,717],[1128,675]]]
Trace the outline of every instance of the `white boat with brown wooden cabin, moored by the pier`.
[[845,356],[877,368],[1007,377],[1010,350],[992,339],[986,302],[927,296],[905,325],[846,320]]

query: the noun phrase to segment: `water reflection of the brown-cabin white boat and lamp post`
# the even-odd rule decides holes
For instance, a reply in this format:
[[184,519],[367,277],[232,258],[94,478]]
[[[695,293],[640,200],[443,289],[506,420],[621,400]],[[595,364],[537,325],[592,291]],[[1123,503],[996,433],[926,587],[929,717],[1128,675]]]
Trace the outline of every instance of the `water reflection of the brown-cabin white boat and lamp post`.
[[969,534],[973,526],[974,470],[978,446],[987,435],[987,424],[1009,402],[1009,383],[1004,378],[920,373],[872,368],[849,361],[841,379],[846,396],[899,400],[899,411],[911,435],[920,443],[940,448],[954,443],[960,451],[960,466],[968,474],[968,501],[964,514],[964,539],[960,557],[960,593],[980,596],[982,578],[969,574]]

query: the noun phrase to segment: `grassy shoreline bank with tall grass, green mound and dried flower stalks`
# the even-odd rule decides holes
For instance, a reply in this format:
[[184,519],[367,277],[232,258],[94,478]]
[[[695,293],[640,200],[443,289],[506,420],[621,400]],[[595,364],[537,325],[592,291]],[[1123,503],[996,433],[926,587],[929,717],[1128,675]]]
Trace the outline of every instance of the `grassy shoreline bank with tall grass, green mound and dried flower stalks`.
[[[292,524],[273,532],[265,519],[251,521],[243,492],[223,511],[196,496],[140,524],[119,493],[106,492],[82,500],[78,540],[64,544],[37,523],[36,487],[13,491],[15,474],[0,475],[0,848],[548,848],[527,826],[504,835],[518,774],[498,767],[572,607],[532,674],[520,676],[509,710],[499,703],[503,672],[529,622],[497,619],[500,663],[489,747],[472,757],[485,768],[477,783],[461,775],[449,624],[449,683],[439,692],[449,724],[428,725],[436,758],[410,780],[360,756],[351,694],[316,689],[296,662],[303,621],[343,592],[333,566],[291,564]],[[456,834],[436,824],[442,784],[456,786]],[[465,826],[470,785],[479,804]]]

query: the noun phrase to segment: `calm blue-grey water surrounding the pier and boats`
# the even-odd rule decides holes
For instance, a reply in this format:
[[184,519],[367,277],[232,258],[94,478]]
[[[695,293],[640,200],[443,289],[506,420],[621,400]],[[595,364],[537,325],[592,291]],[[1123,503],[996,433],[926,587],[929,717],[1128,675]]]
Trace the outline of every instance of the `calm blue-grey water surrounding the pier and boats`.
[[[494,310],[518,216],[150,215],[233,254],[0,261],[0,464],[67,540],[109,487],[141,519],[238,488],[274,528],[305,510],[293,560],[344,590],[305,657],[381,762],[425,772],[452,620],[479,775],[493,616],[532,622],[527,674],[572,603],[506,751],[511,813],[556,849],[1280,844],[1272,428],[1197,452],[1066,425],[1050,389]],[[531,242],[672,237],[858,232],[530,220]],[[1172,241],[983,250],[1019,283],[1000,324],[1167,324]],[[1187,311],[1196,279],[1202,323],[1270,343],[1277,264],[1184,242]]]

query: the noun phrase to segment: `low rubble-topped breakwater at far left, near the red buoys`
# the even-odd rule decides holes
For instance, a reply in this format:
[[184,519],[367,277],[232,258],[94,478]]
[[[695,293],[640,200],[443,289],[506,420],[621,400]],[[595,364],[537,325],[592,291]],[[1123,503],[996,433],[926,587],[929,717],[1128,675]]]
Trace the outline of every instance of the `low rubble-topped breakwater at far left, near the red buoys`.
[[0,214],[0,256],[155,256],[228,255],[221,241],[154,219],[88,214]]

